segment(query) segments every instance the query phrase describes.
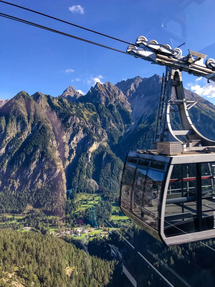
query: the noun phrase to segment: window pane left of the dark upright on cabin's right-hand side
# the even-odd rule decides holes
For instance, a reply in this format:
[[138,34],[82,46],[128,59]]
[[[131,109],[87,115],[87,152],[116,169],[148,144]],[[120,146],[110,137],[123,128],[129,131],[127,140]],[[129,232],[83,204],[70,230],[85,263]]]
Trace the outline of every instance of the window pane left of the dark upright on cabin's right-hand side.
[[165,235],[198,231],[196,163],[173,166],[165,207]]

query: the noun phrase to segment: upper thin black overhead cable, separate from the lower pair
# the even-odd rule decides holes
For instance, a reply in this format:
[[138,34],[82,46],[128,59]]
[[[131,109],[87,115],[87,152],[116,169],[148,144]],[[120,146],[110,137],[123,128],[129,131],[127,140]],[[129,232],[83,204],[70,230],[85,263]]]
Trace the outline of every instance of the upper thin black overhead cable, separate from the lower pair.
[[[100,32],[97,32],[97,31],[92,30],[92,29],[89,29],[89,28],[85,28],[85,27],[79,26],[79,25],[74,24],[74,23],[71,23],[71,22],[67,22],[67,21],[65,21],[65,20],[62,20],[62,19],[59,19],[59,18],[50,16],[50,15],[48,15],[48,14],[44,14],[44,13],[38,12],[38,11],[36,11],[36,10],[32,10],[32,9],[29,9],[29,8],[26,8],[26,7],[17,5],[17,4],[13,4],[13,3],[10,3],[10,2],[7,2],[7,1],[3,1],[3,0],[0,0],[0,2],[5,3],[5,4],[8,4],[8,5],[15,6],[15,7],[18,7],[18,8],[21,8],[21,9],[24,9],[24,10],[27,10],[27,11],[30,11],[30,12],[33,12],[33,13],[36,13],[36,14],[39,14],[39,15],[42,15],[42,16],[45,16],[45,17],[48,17],[48,18],[51,18],[51,19],[54,19],[54,20],[57,20],[57,21],[60,21],[60,22],[69,24],[69,25],[72,25],[72,26],[75,26],[75,27],[78,27],[78,28],[81,28],[81,29],[83,29],[83,30],[87,30],[87,31],[89,31],[89,32],[92,32],[92,33],[95,33],[95,34],[98,34],[98,35],[101,35],[101,36],[104,36],[104,37],[107,37],[107,38],[110,38],[110,39],[114,39],[114,40],[120,41],[120,42],[125,43],[125,44],[129,44],[129,45],[132,44],[132,43],[130,43],[130,42],[127,42],[127,41],[124,41],[124,40],[121,40],[121,39],[118,39],[118,38],[115,38],[115,37],[112,37],[112,36],[109,36],[109,35],[106,35],[106,34],[103,34],[103,33],[100,33]],[[132,45],[136,46],[135,44],[132,44]]]

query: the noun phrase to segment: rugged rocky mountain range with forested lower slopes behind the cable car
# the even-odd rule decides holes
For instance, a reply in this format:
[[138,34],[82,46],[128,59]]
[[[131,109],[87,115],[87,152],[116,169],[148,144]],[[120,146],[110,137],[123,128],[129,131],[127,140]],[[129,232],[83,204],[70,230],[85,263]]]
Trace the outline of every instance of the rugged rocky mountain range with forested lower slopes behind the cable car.
[[[153,142],[161,81],[156,74],[137,76],[97,83],[84,96],[69,86],[56,98],[21,91],[1,100],[1,212],[32,205],[63,214],[67,196],[82,191],[117,199],[126,153]],[[215,139],[215,106],[184,91],[188,100],[198,100],[191,120]],[[177,129],[177,116],[171,120]]]

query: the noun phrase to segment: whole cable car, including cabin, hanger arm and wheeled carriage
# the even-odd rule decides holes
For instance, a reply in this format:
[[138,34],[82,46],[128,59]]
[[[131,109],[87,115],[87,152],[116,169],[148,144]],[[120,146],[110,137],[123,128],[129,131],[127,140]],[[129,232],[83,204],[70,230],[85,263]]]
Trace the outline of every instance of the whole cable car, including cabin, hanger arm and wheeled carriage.
[[[166,74],[161,84],[154,150],[128,153],[120,208],[166,245],[215,237],[215,141],[193,125],[188,110],[197,101],[185,99],[181,76],[182,71],[203,77],[214,75],[215,60],[208,59],[204,65],[204,54],[189,50],[182,57],[181,50],[148,42],[143,36],[136,46],[128,46],[127,52],[165,65]],[[178,113],[179,130],[172,128],[172,111]]]

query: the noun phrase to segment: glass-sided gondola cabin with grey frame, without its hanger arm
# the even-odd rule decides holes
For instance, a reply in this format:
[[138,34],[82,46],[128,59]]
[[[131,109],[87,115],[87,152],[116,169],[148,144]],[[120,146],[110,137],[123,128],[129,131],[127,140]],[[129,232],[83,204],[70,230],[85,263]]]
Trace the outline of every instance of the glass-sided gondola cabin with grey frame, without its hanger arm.
[[[204,161],[203,161],[204,160]],[[129,152],[120,208],[166,245],[215,237],[215,152]]]

